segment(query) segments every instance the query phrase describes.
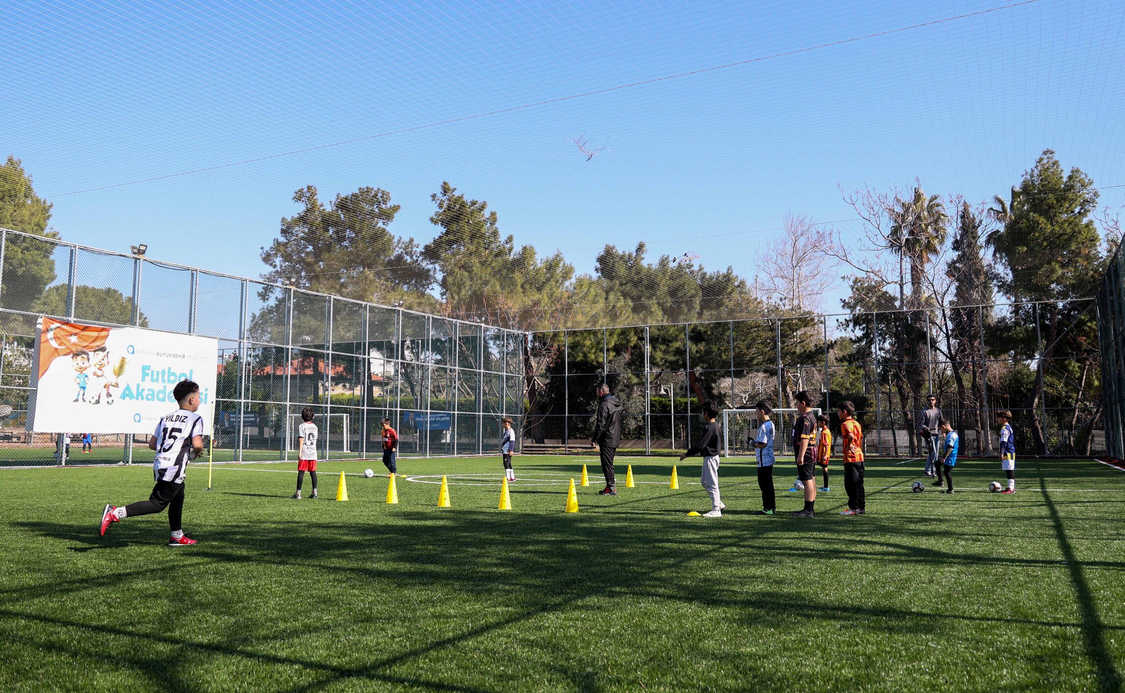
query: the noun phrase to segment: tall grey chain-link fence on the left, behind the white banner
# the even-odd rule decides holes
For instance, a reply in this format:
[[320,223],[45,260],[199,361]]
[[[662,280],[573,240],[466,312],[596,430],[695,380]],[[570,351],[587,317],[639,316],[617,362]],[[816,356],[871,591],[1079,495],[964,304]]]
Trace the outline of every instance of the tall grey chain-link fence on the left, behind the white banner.
[[[151,462],[144,435],[26,430],[36,320],[48,315],[218,340],[215,461],[296,459],[312,407],[324,459],[498,450],[522,431],[523,333],[0,230],[0,466]],[[69,442],[69,453],[68,453]]]

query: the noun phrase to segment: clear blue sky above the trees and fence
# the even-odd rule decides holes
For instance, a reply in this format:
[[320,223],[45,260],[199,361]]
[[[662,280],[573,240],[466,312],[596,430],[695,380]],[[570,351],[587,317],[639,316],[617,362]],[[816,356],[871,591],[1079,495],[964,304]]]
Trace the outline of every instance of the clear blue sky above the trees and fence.
[[[385,188],[392,228],[424,242],[449,180],[578,271],[644,240],[753,279],[786,213],[857,231],[842,189],[917,178],[986,200],[1052,147],[1125,202],[1125,9],[951,19],[1004,4],[24,0],[0,24],[0,155],[24,160],[65,240],[236,274],[261,273],[297,188]],[[579,135],[605,150],[585,161]]]

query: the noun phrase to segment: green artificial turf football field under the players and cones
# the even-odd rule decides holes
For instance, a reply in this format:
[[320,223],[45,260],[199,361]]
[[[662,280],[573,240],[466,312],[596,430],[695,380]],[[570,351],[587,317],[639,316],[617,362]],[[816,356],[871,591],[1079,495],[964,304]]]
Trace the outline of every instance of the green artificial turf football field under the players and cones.
[[920,461],[868,461],[868,514],[843,518],[836,466],[801,520],[792,465],[770,518],[753,465],[723,462],[709,520],[685,516],[709,507],[699,461],[678,490],[672,464],[621,460],[601,497],[592,457],[516,457],[513,512],[498,458],[400,460],[398,505],[379,476],[323,500],[372,460],[322,464],[318,501],[289,500],[295,465],[216,466],[213,492],[192,467],[182,549],[164,515],[97,537],[148,468],[0,470],[0,691],[1122,686],[1125,471],[1020,460],[1005,496],[997,460],[966,459],[947,496],[910,492]]

